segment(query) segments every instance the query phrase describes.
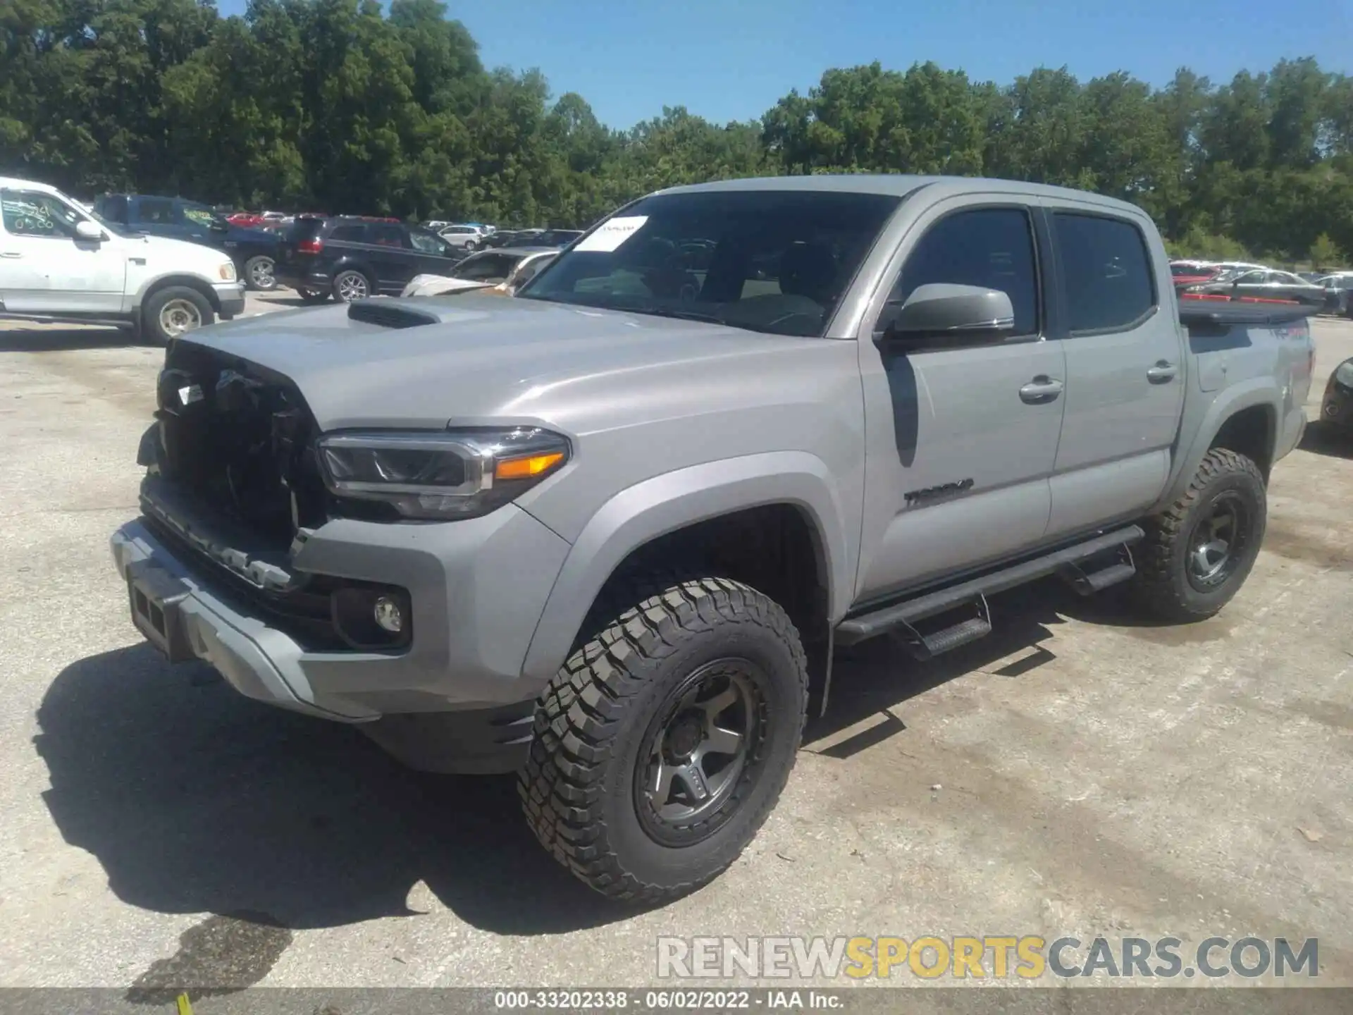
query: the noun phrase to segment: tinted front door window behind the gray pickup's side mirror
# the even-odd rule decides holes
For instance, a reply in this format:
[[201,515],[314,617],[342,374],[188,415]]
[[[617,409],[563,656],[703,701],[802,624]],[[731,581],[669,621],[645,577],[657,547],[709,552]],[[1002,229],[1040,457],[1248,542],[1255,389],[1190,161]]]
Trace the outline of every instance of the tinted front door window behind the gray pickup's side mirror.
[[1038,332],[1038,273],[1028,212],[974,208],[940,219],[908,254],[889,302],[901,306],[919,286],[934,283],[1000,290],[1015,309],[1012,334]]

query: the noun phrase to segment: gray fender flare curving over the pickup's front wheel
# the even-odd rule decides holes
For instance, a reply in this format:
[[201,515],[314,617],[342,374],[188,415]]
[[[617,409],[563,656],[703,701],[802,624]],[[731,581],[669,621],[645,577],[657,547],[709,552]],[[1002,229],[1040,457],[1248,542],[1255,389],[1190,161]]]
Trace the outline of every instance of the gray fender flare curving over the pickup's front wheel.
[[522,675],[548,681],[563,666],[587,610],[616,568],[644,544],[747,508],[789,503],[816,529],[828,614],[850,602],[854,562],[835,479],[816,455],[775,451],[723,459],[645,479],[606,501],[564,559],[526,650]]

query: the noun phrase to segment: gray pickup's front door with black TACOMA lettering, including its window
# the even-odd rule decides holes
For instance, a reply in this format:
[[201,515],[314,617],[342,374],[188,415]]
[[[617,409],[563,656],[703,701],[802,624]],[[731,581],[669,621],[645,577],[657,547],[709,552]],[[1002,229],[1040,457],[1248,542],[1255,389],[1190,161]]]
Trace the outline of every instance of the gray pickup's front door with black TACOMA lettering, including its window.
[[[1034,217],[1001,198],[942,202],[898,252],[888,296],[958,283],[1001,290],[1013,332],[909,351],[859,340],[865,531],[856,600],[877,600],[1036,544],[1062,429],[1062,344],[1047,341]],[[877,315],[875,318],[877,319]]]

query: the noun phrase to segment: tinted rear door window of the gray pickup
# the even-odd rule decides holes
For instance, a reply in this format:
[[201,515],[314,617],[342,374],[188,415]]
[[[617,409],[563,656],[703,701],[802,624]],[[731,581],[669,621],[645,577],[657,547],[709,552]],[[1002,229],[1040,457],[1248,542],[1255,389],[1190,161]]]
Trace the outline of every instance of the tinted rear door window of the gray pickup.
[[1055,244],[1072,332],[1131,328],[1155,306],[1151,261],[1130,222],[1055,212]]

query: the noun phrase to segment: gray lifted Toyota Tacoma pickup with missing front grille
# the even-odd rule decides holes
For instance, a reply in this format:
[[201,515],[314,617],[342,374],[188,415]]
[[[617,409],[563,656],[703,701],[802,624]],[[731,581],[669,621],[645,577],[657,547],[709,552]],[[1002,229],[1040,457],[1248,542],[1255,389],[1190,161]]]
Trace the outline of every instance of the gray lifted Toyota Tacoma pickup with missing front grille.
[[1047,575],[1222,609],[1306,424],[1310,313],[1181,303],[1151,221],[1091,194],[681,187],[510,300],[176,340],[112,551],[170,660],[417,767],[517,770],[559,861],[655,901],[755,835],[833,644],[928,659]]

